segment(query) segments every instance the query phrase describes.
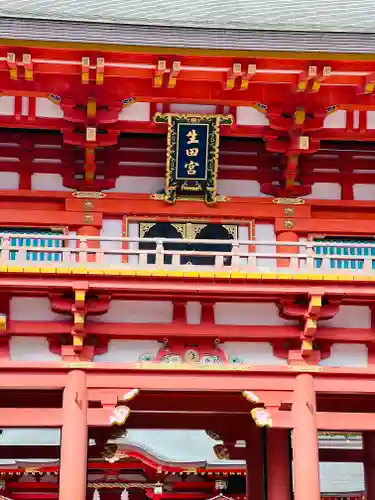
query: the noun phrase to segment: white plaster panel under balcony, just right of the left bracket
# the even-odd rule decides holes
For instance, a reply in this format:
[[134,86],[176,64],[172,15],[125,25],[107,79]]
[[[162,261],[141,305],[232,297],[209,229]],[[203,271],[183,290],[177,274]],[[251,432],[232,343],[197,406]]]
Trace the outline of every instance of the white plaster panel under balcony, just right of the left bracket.
[[108,312],[90,316],[91,321],[108,323],[171,323],[173,305],[169,301],[111,300]]

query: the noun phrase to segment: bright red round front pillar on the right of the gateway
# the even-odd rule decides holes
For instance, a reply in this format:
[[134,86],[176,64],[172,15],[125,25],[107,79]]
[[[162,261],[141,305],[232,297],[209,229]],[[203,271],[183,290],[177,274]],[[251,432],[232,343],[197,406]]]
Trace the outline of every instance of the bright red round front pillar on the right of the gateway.
[[294,499],[320,500],[316,396],[309,373],[296,377],[292,417]]

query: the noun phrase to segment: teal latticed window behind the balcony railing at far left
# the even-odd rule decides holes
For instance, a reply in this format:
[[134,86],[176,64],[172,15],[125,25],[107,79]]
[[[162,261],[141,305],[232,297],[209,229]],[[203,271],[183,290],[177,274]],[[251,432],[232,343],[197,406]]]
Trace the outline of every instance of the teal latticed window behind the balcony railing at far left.
[[[41,248],[62,248],[64,246],[64,240],[45,238],[44,236],[54,236],[57,234],[63,234],[62,230],[52,231],[37,228],[0,228],[1,241],[3,241],[3,236],[6,234],[12,234],[9,239],[10,247],[18,246],[26,249],[26,260],[37,261],[37,262],[58,262],[62,260],[62,252],[56,250],[56,252],[43,252],[42,250],[32,250],[36,247]],[[16,236],[16,234],[30,234],[32,238],[27,238],[24,236]],[[29,250],[30,249],[30,250]],[[16,250],[11,250],[9,252],[9,260],[17,259]]]

